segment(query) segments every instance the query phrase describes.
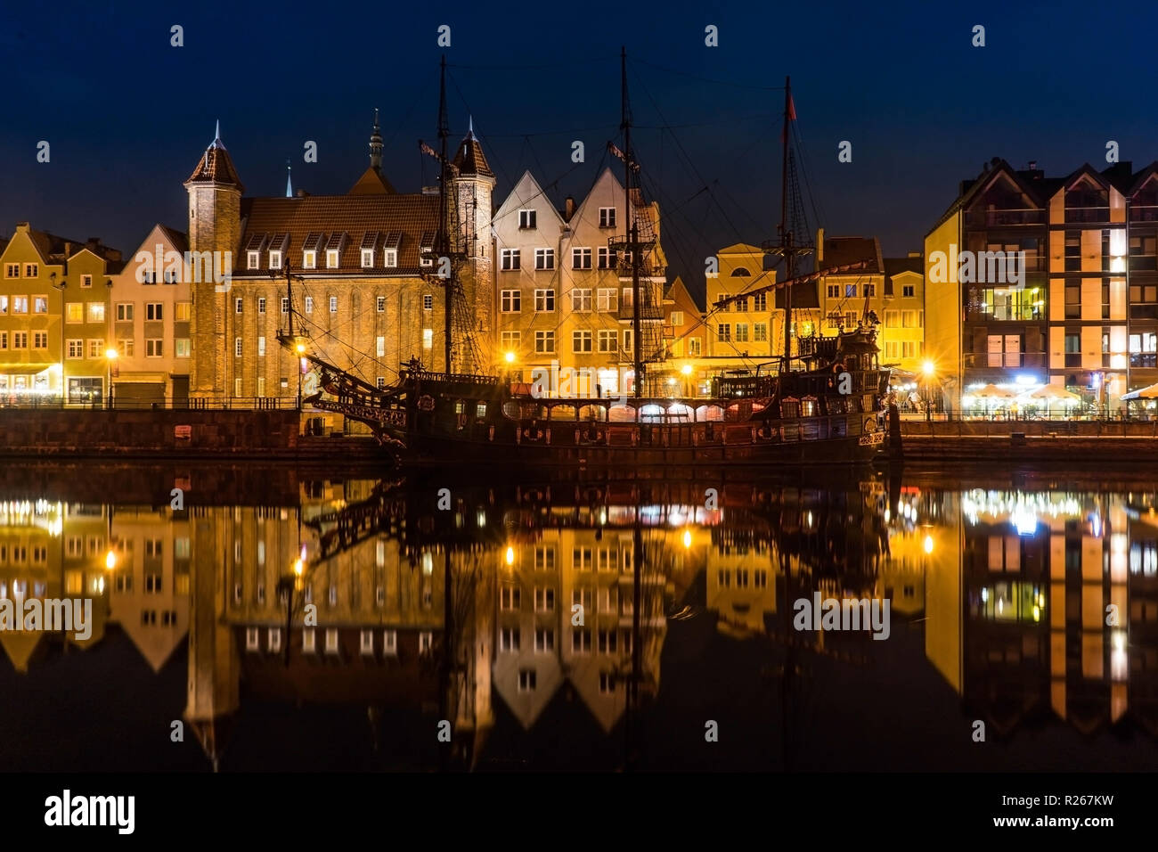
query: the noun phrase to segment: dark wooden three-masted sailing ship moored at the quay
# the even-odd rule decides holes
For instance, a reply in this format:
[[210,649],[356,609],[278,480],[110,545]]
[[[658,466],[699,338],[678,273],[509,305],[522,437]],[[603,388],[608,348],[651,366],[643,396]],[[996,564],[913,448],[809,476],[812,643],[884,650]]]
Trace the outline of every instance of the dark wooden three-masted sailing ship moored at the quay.
[[[709,383],[708,396],[645,394],[647,366],[654,352],[645,345],[645,322],[655,327],[659,308],[643,298],[640,278],[645,260],[655,248],[654,228],[642,204],[639,162],[631,146],[628,105],[626,53],[621,54],[623,147],[609,151],[623,162],[626,195],[626,233],[613,236],[609,249],[630,277],[632,345],[630,398],[543,394],[508,377],[477,371],[453,372],[457,281],[461,255],[453,250],[448,203],[440,205],[435,245],[426,255],[437,283],[445,290],[446,372],[412,359],[403,364],[398,381],[376,387],[313,355],[305,338],[293,333],[293,292],[290,287],[290,332],[283,345],[314,364],[317,393],[303,400],[316,409],[335,412],[366,423],[386,451],[404,464],[498,463],[504,465],[718,465],[754,463],[864,463],[882,449],[886,435],[885,400],[888,370],[881,369],[875,319],[864,318],[836,336],[797,336],[793,352],[792,289],[824,275],[848,272],[866,264],[845,264],[797,276],[797,260],[812,252],[797,240],[789,220],[790,122],[796,117],[791,81],[785,81],[784,160],[779,239],[764,250],[783,261],[780,281],[746,290],[717,301],[713,311],[738,299],[782,292],[784,300],[783,355],[774,372],[719,376]],[[448,187],[446,63],[440,85],[439,139],[441,187]],[[423,145],[426,153],[434,152]],[[767,298],[767,296],[765,296]],[[645,315],[646,314],[646,315]],[[467,332],[467,345],[472,347]],[[660,347],[661,349],[662,347]],[[474,361],[474,359],[471,359]],[[477,362],[476,362],[477,363]]]

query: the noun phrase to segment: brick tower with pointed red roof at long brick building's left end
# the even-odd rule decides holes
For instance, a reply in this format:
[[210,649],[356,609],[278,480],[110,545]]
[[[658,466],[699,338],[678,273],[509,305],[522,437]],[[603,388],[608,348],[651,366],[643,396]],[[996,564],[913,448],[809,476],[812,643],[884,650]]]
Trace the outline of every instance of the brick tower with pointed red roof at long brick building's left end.
[[[214,252],[228,252],[230,269],[237,267],[241,242],[241,194],[244,187],[237,177],[233,159],[221,141],[221,124],[205,148],[197,168],[185,181],[189,192],[189,250],[210,258],[208,281],[191,282],[192,310],[192,364],[190,367],[190,395],[220,396],[226,393],[223,371],[226,345],[223,292],[217,292],[212,264]],[[204,253],[208,252],[208,255]],[[195,264],[196,267],[196,264]],[[220,268],[225,268],[223,262]]]

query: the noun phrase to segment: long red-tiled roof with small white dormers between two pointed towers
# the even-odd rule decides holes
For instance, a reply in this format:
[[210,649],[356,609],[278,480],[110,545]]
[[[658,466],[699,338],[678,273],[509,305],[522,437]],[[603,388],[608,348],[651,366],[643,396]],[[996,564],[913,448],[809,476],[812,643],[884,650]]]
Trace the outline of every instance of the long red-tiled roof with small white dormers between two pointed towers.
[[[418,275],[422,271],[419,249],[424,234],[438,230],[439,199],[437,195],[312,195],[305,198],[242,198],[241,216],[244,221],[241,245],[264,246],[287,253],[290,265],[301,269],[301,249],[307,236],[313,246],[324,238],[327,248],[338,248],[339,265],[327,269],[323,257],[317,258],[317,274],[359,272],[362,275]],[[360,247],[367,232],[389,234],[398,232],[398,265],[372,270],[361,268]],[[318,235],[322,235],[321,238]],[[379,264],[382,253],[374,255]],[[261,269],[250,270],[245,258],[234,277],[269,274],[269,252],[262,250]],[[313,271],[313,270],[309,270]]]

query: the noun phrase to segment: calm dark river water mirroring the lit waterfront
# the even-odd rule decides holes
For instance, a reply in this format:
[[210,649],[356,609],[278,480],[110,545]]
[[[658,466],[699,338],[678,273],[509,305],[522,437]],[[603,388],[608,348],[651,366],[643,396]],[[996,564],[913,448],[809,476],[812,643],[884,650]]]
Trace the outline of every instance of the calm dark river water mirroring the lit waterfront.
[[0,765],[1158,766],[1158,473],[674,476],[8,466]]

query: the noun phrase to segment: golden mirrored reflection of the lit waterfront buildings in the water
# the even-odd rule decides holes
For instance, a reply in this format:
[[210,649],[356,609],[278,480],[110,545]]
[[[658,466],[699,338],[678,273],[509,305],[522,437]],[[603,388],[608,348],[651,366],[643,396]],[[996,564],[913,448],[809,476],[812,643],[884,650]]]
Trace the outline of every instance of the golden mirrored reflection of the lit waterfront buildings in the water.
[[95,626],[83,642],[0,632],[0,646],[24,676],[109,629],[154,672],[184,646],[184,718],[214,767],[229,766],[249,702],[365,708],[374,749],[409,731],[428,740],[415,758],[427,767],[496,765],[504,720],[533,733],[578,707],[596,736],[624,736],[630,767],[676,622],[757,643],[796,724],[816,661],[884,664],[867,631],[793,628],[793,602],[819,592],[891,602],[893,635],[922,638],[961,718],[992,737],[1058,722],[1152,737],[1156,507],[1152,490],[879,475],[449,494],[316,479],[261,505],[188,510],[13,496],[0,597],[93,597]]

